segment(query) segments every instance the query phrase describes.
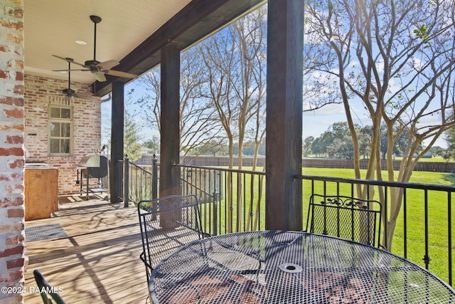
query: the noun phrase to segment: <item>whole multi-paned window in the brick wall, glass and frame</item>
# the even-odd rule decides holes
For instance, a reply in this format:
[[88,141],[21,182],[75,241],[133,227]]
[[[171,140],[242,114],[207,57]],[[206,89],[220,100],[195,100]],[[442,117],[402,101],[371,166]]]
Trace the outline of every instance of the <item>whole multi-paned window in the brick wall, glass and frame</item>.
[[64,105],[49,106],[49,155],[73,153],[73,109]]

